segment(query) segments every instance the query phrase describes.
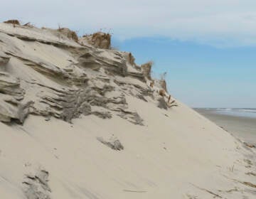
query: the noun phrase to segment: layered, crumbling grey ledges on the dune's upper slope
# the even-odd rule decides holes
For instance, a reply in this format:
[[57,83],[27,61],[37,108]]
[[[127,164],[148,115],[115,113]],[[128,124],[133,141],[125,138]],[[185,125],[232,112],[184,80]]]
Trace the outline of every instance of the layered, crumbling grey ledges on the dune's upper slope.
[[134,96],[153,95],[142,72],[128,68],[130,60],[123,53],[79,45],[68,28],[1,26],[2,122],[23,123],[28,114],[67,122],[80,114],[117,114],[142,124],[139,114],[127,107],[123,77],[138,79],[129,88]]

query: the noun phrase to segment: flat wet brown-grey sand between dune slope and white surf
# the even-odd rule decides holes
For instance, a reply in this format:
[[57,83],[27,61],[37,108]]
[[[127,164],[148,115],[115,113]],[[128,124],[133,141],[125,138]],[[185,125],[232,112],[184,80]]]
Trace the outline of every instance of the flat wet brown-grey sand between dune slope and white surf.
[[195,109],[243,141],[256,145],[256,118],[218,114],[214,109]]

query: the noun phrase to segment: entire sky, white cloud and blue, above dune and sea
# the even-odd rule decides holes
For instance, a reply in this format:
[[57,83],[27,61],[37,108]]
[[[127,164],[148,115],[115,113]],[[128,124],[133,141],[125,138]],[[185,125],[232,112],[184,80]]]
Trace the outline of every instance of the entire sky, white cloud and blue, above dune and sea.
[[44,0],[1,2],[0,20],[112,34],[112,45],[167,72],[191,107],[256,108],[255,0]]

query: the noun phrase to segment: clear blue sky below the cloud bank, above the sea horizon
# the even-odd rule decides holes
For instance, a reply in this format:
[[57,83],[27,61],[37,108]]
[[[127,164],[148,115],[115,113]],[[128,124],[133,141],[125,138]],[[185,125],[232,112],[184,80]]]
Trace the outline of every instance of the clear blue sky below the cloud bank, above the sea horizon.
[[138,64],[154,61],[153,75],[167,72],[171,95],[191,107],[256,107],[256,47],[220,48],[169,38],[114,41]]

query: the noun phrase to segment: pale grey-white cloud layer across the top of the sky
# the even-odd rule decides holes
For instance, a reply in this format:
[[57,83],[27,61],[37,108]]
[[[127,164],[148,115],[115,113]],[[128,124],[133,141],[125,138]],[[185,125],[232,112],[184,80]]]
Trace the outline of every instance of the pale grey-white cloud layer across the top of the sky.
[[2,21],[68,26],[82,33],[105,28],[119,39],[164,36],[215,46],[256,45],[255,0],[4,1]]

